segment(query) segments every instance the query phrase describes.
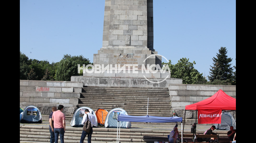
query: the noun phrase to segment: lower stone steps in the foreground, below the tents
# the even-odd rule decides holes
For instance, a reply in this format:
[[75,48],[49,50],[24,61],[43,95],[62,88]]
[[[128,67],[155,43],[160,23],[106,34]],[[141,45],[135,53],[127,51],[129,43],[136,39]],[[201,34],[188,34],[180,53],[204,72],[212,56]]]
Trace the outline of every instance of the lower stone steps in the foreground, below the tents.
[[[132,127],[129,129],[121,128],[120,142],[136,142],[136,143],[153,143],[154,141],[168,141],[167,135],[170,134],[175,123],[135,123],[131,122]],[[78,143],[82,133],[82,127],[75,128],[67,124],[64,141],[68,143]],[[190,125],[184,126],[184,134],[190,133]],[[181,128],[181,124],[178,124]],[[208,126],[197,126],[197,133],[203,133]],[[181,132],[181,131],[180,131]],[[214,130],[219,134],[220,139],[226,140],[227,130]],[[189,139],[189,138],[188,138]],[[46,143],[50,141],[49,122],[43,121],[42,124],[20,124],[20,142]],[[117,128],[94,127],[92,134],[92,142],[95,143],[113,143],[117,141]],[[85,138],[87,142],[87,138]]]

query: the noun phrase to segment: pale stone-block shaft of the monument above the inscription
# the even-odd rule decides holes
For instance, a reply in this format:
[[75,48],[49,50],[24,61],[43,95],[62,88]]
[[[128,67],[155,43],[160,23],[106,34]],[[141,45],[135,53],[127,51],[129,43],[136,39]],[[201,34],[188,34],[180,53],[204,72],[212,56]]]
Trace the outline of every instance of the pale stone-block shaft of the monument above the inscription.
[[147,34],[147,0],[105,0],[103,48],[147,47]]

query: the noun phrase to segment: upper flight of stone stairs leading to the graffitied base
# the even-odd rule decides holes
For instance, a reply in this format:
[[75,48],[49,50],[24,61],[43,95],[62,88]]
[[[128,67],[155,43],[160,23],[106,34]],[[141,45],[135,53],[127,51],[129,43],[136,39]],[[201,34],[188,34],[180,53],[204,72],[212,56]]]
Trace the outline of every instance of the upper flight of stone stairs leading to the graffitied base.
[[83,87],[78,101],[79,107],[90,107],[92,110],[104,108],[124,109],[128,115],[163,116],[172,115],[168,88],[126,88],[126,87]]

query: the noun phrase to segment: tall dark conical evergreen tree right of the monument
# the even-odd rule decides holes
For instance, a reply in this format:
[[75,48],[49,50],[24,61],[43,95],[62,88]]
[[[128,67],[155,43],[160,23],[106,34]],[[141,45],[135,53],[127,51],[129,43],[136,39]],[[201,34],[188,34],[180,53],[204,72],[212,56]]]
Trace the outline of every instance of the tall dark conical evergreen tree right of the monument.
[[214,80],[218,81],[216,83],[222,83],[220,81],[225,81],[226,84],[232,82],[233,67],[230,64],[232,58],[228,58],[227,52],[226,47],[220,47],[217,57],[213,57],[213,66],[211,66],[210,76],[208,76],[210,82],[214,83]]

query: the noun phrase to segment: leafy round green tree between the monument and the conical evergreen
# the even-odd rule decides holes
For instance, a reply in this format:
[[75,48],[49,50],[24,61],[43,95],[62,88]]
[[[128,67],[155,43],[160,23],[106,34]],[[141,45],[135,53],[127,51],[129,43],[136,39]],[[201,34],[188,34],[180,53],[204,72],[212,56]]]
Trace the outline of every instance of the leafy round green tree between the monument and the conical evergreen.
[[195,68],[193,63],[189,62],[187,58],[181,58],[178,60],[178,63],[173,65],[171,60],[168,63],[162,63],[162,65],[168,64],[170,68],[171,78],[180,78],[182,79],[183,84],[196,84],[200,81],[203,81],[203,73],[199,73]]

